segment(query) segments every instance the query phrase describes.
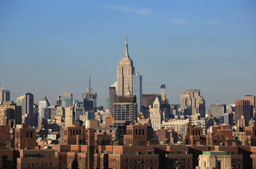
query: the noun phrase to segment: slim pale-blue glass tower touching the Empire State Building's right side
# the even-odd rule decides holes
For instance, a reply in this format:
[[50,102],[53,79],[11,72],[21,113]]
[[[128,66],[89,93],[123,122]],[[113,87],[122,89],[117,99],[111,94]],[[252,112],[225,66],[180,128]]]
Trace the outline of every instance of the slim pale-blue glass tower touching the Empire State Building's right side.
[[132,74],[132,95],[136,95],[138,112],[140,113],[142,106],[142,76],[139,72]]

